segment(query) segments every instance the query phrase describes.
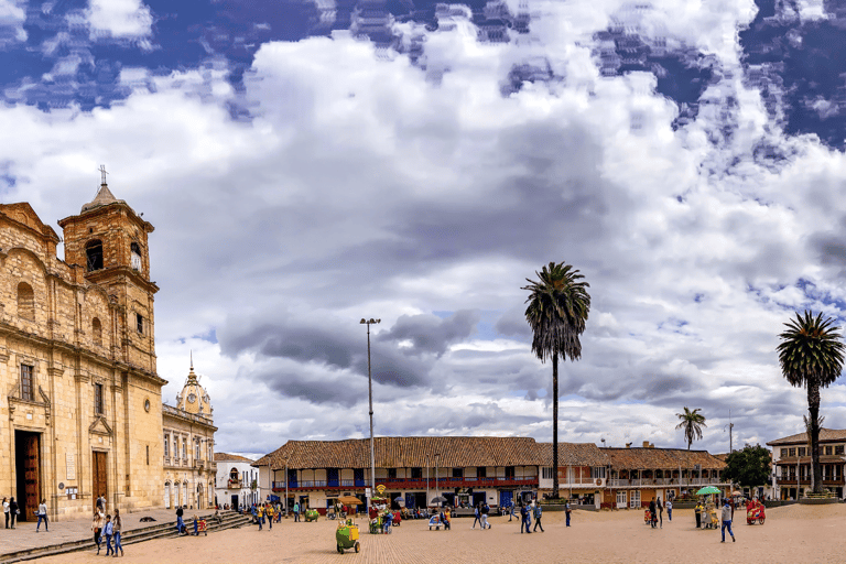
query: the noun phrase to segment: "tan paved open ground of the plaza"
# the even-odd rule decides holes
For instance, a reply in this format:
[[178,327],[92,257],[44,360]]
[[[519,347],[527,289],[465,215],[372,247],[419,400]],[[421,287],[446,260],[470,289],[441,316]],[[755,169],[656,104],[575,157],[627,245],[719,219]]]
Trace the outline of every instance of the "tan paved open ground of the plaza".
[[[666,517],[666,516],[664,516]],[[424,521],[403,521],[390,535],[370,535],[361,524],[361,552],[337,553],[335,521],[283,521],[273,530],[256,527],[208,536],[167,539],[130,545],[126,562],[250,564],[303,563],[815,563],[843,562],[846,506],[792,506],[771,509],[764,525],[747,525],[737,516],[737,542],[719,542],[718,530],[696,530],[691,510],[674,512],[662,529],[643,524],[642,511],[576,511],[573,527],[547,512],[545,533],[520,534],[508,517],[491,519],[492,529],[471,530],[471,519],[456,519],[452,531],[430,531]],[[72,553],[37,562],[79,563],[99,560],[94,552]]]

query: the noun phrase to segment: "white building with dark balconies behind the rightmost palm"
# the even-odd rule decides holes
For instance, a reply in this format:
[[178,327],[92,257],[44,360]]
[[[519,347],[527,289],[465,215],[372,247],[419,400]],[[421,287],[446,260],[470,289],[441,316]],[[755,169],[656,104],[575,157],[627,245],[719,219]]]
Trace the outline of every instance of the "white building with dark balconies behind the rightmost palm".
[[[807,433],[777,438],[772,447],[772,489],[776,499],[798,499],[811,489],[811,446]],[[846,464],[846,431],[820,429],[820,463],[823,487],[844,499],[844,464]]]

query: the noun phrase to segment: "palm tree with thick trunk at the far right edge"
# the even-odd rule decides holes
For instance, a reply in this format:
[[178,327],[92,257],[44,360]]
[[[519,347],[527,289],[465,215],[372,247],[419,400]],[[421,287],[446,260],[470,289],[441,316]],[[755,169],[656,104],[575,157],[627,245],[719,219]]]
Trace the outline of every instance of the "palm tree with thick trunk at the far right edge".
[[822,467],[820,466],[820,387],[827,388],[843,370],[844,345],[839,327],[834,319],[823,319],[805,311],[804,316],[784,325],[788,330],[779,335],[778,346],[781,373],[791,386],[807,388],[807,411],[811,423],[811,466],[814,494],[823,492]]

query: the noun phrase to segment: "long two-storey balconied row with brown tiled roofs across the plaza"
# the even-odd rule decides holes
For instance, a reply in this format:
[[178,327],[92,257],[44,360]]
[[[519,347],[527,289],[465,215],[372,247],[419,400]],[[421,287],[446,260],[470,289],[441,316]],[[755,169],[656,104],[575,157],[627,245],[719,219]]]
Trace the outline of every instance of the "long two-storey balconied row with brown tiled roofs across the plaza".
[[[405,507],[431,505],[435,496],[449,505],[508,506],[543,499],[553,488],[552,444],[529,437],[377,437],[375,458],[377,488]],[[262,488],[281,497],[288,489],[289,505],[324,510],[332,498],[362,496],[370,486],[370,441],[290,441],[253,466]],[[640,508],[703,486],[727,494],[724,468],[705,451],[561,443],[558,494],[596,507]]]

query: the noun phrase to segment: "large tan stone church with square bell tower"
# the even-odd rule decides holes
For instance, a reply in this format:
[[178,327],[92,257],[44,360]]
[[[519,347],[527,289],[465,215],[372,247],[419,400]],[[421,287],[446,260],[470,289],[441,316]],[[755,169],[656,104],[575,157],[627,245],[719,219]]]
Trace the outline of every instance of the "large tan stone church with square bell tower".
[[58,225],[62,239],[29,204],[0,205],[0,496],[26,519],[41,499],[58,519],[90,514],[99,495],[162,507],[153,226],[105,174]]

